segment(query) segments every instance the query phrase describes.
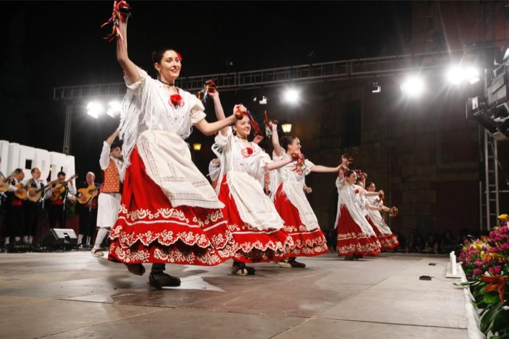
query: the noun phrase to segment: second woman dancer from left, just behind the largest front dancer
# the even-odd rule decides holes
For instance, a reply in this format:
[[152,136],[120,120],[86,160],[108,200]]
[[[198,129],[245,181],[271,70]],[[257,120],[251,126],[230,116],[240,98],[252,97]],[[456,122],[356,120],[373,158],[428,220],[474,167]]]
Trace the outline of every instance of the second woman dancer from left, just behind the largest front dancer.
[[[217,118],[222,116],[218,114]],[[282,230],[284,223],[274,204],[263,191],[265,172],[290,163],[292,158],[272,161],[256,143],[247,141],[250,132],[250,120],[244,115],[232,127],[223,128],[212,146],[220,158],[216,191],[225,205],[222,212],[237,246],[232,268],[237,275],[254,274],[254,268],[245,263],[288,257],[294,246],[292,237]]]

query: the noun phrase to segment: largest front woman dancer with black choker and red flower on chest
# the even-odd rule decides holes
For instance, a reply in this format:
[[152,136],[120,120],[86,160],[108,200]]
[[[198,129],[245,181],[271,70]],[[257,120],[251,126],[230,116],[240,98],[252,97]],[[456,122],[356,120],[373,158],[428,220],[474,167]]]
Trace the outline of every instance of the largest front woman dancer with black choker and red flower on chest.
[[224,205],[191,161],[184,139],[195,126],[206,135],[232,124],[231,116],[208,123],[200,100],[175,87],[182,58],[173,49],[152,53],[157,80],[127,55],[127,22],[120,20],[117,60],[124,69],[127,94],[122,105],[120,137],[124,177],[119,218],[112,229],[109,260],[142,275],[153,263],[151,286],[179,286],[164,274],[165,263],[217,265],[229,258]]

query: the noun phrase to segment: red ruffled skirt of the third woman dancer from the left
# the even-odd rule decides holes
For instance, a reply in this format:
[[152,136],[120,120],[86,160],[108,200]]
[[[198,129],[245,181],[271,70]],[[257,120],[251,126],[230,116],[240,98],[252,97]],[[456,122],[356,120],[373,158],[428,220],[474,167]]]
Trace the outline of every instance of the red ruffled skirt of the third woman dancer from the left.
[[277,188],[274,205],[277,213],[285,220],[285,232],[288,233],[295,244],[291,250],[292,257],[313,257],[323,253],[328,253],[327,240],[322,231],[308,231],[300,220],[299,211],[288,200],[285,192],[282,191],[283,184]]

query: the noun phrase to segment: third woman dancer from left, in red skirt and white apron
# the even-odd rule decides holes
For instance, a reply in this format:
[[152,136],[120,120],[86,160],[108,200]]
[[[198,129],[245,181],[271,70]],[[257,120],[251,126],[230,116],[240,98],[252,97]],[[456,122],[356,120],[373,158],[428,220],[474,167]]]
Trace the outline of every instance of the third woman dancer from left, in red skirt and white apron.
[[[292,153],[300,152],[301,145],[298,137],[285,136],[281,139],[281,147],[277,135],[277,125],[270,123],[272,129],[272,146],[274,147],[273,160],[291,159]],[[272,175],[272,197],[277,212],[285,221],[285,232],[293,238],[295,248],[288,262],[280,261],[279,266],[285,268],[306,267],[305,264],[295,261],[297,256],[312,257],[327,253],[327,240],[320,230],[318,220],[304,194],[305,176],[311,172],[333,173],[340,169],[315,165],[305,159],[299,168],[297,160],[280,167],[277,175]],[[304,188],[305,187],[305,188]]]

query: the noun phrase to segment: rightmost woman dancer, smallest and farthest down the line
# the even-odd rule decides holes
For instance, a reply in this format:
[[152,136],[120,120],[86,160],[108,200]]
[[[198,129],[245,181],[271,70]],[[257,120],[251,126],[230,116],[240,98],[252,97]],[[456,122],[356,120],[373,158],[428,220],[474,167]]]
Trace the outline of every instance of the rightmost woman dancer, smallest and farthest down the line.
[[[365,180],[365,179],[364,179]],[[375,193],[376,186],[374,182],[367,183],[366,187],[367,193]],[[375,231],[378,241],[380,241],[381,250],[384,249],[392,249],[397,247],[400,243],[398,242],[398,238],[392,234],[388,225],[385,223],[384,219],[380,212],[389,212],[390,208],[384,206],[383,200],[380,197],[380,194],[375,195],[367,195],[366,196],[367,203],[370,206],[374,206],[374,209],[367,209],[366,219],[372,225],[373,231]]]

